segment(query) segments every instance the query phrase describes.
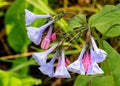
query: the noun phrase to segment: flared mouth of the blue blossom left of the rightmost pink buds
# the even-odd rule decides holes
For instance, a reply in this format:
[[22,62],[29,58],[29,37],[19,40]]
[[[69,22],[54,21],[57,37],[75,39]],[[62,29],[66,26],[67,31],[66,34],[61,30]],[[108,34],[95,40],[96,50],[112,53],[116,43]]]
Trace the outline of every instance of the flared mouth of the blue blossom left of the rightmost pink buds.
[[79,60],[74,61],[73,63],[71,63],[67,69],[71,72],[74,73],[78,73],[78,74],[85,74],[85,70],[83,67],[82,62],[80,62]]

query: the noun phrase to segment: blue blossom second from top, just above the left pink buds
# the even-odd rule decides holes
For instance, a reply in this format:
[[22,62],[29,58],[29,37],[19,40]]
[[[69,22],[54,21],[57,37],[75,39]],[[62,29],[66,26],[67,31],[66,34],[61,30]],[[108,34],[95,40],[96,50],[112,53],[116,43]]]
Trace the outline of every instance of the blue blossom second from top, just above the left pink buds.
[[41,26],[40,28],[35,28],[35,27],[27,27],[27,34],[29,39],[36,45],[39,45],[42,39],[42,34],[46,30],[48,26],[50,26],[53,21],[48,22],[47,24]]

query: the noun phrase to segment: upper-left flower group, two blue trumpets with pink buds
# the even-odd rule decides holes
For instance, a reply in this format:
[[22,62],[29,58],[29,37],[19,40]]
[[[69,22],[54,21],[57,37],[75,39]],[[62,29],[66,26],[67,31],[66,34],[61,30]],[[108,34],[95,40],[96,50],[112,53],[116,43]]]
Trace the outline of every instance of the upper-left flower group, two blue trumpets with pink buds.
[[40,44],[42,40],[43,32],[49,27],[48,33],[41,43],[42,49],[48,49],[50,42],[56,39],[56,33],[53,32],[53,28],[52,26],[50,26],[51,24],[54,23],[54,20],[49,21],[48,23],[46,23],[45,25],[39,28],[32,27],[30,25],[35,21],[35,19],[50,18],[50,17],[52,16],[51,15],[37,15],[37,14],[30,12],[27,9],[25,10],[25,21],[26,21],[27,34],[28,34],[29,39],[35,45]]

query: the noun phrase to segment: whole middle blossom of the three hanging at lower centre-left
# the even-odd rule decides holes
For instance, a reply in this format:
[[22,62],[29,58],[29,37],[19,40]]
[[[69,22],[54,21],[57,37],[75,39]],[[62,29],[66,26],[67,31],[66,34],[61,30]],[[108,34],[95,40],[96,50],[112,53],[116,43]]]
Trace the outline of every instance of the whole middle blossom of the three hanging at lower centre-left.
[[54,74],[54,62],[58,56],[58,51],[54,54],[54,57],[50,60],[50,62],[43,64],[39,67],[39,70],[49,77],[53,77]]

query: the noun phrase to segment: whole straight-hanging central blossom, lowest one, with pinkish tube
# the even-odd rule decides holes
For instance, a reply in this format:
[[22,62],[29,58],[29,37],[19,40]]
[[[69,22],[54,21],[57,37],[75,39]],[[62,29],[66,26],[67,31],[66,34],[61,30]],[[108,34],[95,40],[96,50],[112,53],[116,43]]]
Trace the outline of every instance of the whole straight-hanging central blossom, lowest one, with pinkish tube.
[[56,68],[54,77],[56,78],[70,78],[70,74],[67,71],[67,68],[65,67],[65,55],[64,50],[62,49],[62,54],[59,58],[58,66]]

